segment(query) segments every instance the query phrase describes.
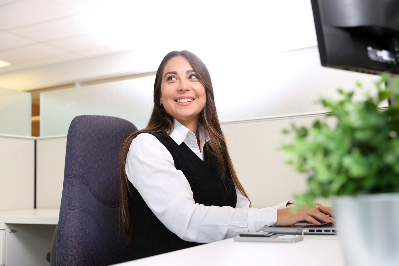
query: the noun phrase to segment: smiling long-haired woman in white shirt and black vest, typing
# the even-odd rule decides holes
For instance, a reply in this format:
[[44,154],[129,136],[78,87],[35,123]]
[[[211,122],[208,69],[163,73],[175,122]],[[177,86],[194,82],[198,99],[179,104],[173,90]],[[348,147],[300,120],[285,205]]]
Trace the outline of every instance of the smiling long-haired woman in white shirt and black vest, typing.
[[121,157],[120,218],[131,244],[127,260],[265,225],[332,222],[326,215],[331,209],[320,204],[297,213],[288,202],[250,207],[219,125],[211,77],[188,51],[170,52],[162,60],[148,126],[126,139]]

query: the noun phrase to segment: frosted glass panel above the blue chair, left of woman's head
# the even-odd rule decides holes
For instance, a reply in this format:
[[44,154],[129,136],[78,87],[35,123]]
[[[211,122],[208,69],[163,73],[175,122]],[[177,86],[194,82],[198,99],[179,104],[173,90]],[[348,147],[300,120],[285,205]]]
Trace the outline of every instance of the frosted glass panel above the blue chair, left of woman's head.
[[147,125],[154,76],[40,93],[40,136],[65,135],[77,115],[111,115]]

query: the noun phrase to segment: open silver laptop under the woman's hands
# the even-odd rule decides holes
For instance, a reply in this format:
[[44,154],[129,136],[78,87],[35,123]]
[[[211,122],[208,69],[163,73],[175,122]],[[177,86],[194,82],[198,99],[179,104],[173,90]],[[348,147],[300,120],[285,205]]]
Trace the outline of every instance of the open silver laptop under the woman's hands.
[[298,222],[292,226],[269,226],[263,227],[265,232],[273,232],[278,234],[338,234],[336,224],[327,224],[322,222],[320,225],[312,224],[311,222]]

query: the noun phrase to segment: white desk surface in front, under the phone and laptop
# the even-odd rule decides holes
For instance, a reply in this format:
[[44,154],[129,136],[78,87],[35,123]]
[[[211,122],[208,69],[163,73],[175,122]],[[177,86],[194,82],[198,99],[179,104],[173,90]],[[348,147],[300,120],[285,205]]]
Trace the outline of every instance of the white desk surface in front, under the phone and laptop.
[[229,238],[115,265],[344,265],[338,236],[305,237],[296,243],[235,242]]

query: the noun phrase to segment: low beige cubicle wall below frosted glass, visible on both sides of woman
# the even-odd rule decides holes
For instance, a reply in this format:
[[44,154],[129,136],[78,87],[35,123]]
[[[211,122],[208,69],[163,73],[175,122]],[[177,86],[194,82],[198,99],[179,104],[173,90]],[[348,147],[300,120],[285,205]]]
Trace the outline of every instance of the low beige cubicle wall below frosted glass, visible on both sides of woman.
[[[306,189],[306,177],[283,163],[279,147],[291,123],[310,125],[320,115],[269,117],[261,121],[224,123],[233,164],[254,207],[278,204]],[[59,208],[63,185],[66,135],[23,137],[0,135],[0,210],[34,207],[36,141],[36,207]]]

